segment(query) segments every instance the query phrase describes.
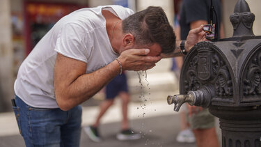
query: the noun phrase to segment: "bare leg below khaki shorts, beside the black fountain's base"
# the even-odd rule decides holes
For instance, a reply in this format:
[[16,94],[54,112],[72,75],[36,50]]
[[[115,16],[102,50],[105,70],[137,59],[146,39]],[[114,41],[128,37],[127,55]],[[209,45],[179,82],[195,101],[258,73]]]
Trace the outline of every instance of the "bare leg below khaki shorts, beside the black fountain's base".
[[214,127],[210,129],[196,129],[193,130],[193,133],[196,137],[196,144],[198,147],[219,147],[219,141]]

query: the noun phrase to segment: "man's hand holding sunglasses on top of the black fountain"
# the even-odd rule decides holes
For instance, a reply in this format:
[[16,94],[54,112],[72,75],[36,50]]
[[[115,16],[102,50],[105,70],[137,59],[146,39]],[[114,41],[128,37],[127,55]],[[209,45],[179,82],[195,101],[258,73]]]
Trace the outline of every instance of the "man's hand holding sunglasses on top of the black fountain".
[[187,36],[187,41],[185,42],[186,51],[189,52],[189,50],[196,45],[197,42],[207,40],[205,38],[205,34],[206,33],[203,31],[203,25],[196,29],[191,29],[191,31],[189,31],[189,35]]

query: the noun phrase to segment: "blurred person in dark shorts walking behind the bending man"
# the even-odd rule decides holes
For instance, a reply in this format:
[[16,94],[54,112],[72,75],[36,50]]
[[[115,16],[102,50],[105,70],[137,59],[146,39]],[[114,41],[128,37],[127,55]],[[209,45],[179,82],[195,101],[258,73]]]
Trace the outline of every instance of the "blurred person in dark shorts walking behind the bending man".
[[88,137],[95,142],[102,141],[102,138],[100,137],[100,133],[98,130],[100,125],[100,119],[102,118],[102,116],[104,116],[104,114],[109,109],[109,107],[113,105],[115,98],[119,96],[122,101],[122,123],[121,123],[121,131],[116,135],[116,138],[118,140],[140,139],[141,134],[135,133],[129,127],[127,109],[128,109],[130,96],[128,93],[127,77],[125,73],[122,72],[122,75],[117,75],[114,79],[111,80],[111,82],[109,82],[109,84],[106,85],[105,89],[106,89],[106,100],[104,100],[100,105],[100,112],[95,119],[95,123],[93,123],[93,125],[84,128],[85,132],[88,134]]

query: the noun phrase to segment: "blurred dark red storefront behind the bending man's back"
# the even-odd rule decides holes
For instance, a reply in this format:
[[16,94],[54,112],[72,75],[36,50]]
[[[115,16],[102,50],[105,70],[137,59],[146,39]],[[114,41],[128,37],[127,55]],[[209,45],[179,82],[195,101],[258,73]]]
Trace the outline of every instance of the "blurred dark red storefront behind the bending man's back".
[[85,8],[75,3],[45,3],[24,1],[26,55],[28,55],[42,36],[61,19],[74,10]]

